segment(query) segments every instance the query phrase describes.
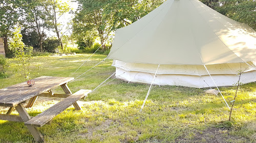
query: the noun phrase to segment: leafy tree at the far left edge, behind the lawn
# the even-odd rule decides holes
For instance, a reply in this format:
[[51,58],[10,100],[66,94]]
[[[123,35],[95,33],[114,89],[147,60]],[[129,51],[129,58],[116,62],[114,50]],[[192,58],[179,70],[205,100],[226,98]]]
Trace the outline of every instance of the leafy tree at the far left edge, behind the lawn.
[[0,2],[0,37],[4,38],[5,53],[8,55],[8,36],[10,35],[11,29],[19,18],[19,1],[2,0]]

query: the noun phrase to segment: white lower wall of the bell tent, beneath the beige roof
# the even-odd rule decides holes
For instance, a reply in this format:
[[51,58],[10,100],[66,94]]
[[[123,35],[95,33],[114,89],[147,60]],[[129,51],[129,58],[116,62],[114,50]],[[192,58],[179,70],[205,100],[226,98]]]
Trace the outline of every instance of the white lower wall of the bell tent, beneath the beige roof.
[[[249,65],[250,66],[249,66]],[[124,63],[113,61],[116,77],[130,82],[151,84],[158,65]],[[160,65],[153,84],[177,85],[183,87],[209,88],[232,86],[238,82],[238,71],[244,71],[242,83],[256,81],[254,62],[206,65],[211,77],[203,65]],[[214,83],[215,82],[215,83]]]

